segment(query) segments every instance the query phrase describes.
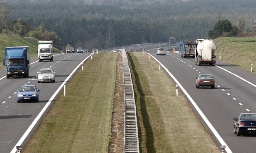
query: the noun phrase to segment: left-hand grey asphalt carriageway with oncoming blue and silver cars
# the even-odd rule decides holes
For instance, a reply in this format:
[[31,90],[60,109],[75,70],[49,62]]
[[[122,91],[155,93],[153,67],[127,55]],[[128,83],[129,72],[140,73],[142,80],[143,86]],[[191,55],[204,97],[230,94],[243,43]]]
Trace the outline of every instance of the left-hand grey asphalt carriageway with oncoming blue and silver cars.
[[[58,54],[54,55],[52,62],[39,62],[36,57],[30,58],[28,78],[7,79],[5,69],[0,70],[0,153],[15,152],[17,145],[25,146],[52,103],[63,91],[60,86],[68,83],[71,78],[69,75],[90,55],[91,53]],[[56,72],[55,82],[39,84],[37,72],[48,67]],[[40,90],[39,103],[17,103],[16,91],[26,84],[35,85]],[[38,122],[33,123],[35,119]]]

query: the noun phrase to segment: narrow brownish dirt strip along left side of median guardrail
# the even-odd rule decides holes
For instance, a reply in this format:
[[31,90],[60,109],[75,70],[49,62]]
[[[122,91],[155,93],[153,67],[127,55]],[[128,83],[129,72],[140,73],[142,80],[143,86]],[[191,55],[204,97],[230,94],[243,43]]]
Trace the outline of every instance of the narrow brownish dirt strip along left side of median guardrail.
[[116,62],[115,98],[112,112],[111,139],[109,153],[121,153],[124,150],[124,81],[122,55],[118,54]]

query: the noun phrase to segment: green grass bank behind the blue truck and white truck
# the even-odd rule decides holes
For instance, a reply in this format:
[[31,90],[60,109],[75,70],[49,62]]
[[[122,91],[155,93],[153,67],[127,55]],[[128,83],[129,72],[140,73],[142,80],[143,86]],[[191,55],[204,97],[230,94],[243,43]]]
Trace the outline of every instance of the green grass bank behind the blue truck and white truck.
[[[29,46],[30,57],[37,56],[37,42],[39,40],[28,37],[9,36],[0,34],[0,61],[5,59],[5,48],[12,46]],[[61,50],[54,48],[54,53],[61,53]],[[0,68],[4,66],[0,64]]]

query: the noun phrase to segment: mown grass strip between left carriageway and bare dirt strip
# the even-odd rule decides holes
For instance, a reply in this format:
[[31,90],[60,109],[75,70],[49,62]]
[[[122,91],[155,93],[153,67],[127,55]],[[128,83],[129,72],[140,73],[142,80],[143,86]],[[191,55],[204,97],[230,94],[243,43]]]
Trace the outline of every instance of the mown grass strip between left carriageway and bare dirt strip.
[[24,153],[106,153],[111,134],[117,54],[85,62],[59,96]]

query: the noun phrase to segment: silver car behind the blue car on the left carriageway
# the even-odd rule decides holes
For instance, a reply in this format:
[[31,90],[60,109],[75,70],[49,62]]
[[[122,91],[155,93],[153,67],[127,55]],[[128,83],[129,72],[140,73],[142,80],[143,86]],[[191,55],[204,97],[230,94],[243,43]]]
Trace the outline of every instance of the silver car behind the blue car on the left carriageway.
[[37,72],[38,76],[38,83],[42,81],[51,81],[55,82],[55,72],[53,69],[50,68],[45,68],[45,69],[40,69],[39,72]]

